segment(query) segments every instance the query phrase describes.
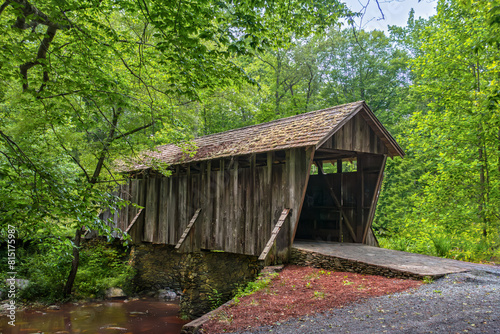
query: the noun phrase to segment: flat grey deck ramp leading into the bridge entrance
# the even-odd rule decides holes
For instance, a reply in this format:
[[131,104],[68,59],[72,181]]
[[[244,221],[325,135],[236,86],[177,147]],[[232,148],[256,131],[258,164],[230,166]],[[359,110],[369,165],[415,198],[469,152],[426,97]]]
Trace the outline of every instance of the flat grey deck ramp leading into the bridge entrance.
[[363,244],[295,240],[293,247],[332,258],[389,268],[418,276],[439,277],[471,270],[495,270],[494,266],[413,254]]

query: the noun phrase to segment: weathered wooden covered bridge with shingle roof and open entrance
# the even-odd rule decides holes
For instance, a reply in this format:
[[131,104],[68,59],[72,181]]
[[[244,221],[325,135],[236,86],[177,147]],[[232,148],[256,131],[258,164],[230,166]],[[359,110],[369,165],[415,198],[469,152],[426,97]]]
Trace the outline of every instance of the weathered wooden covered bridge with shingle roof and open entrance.
[[[127,168],[114,226],[135,243],[287,261],[295,239],[376,245],[387,157],[404,152],[364,102],[170,144]],[[168,165],[165,177],[151,166]]]

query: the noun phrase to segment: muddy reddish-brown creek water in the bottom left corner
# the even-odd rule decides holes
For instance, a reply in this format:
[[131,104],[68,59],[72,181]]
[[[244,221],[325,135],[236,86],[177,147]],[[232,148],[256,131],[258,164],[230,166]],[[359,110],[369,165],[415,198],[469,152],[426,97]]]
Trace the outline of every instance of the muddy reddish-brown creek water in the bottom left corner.
[[179,305],[156,300],[65,304],[60,310],[27,310],[16,314],[16,325],[0,317],[0,334],[178,334],[186,323],[177,317]]

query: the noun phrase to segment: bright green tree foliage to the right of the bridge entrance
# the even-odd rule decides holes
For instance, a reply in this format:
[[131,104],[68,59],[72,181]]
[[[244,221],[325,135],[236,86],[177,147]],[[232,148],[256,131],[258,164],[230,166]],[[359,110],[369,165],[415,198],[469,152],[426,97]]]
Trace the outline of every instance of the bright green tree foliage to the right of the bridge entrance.
[[418,36],[412,94],[426,107],[404,132],[408,157],[399,177],[411,170],[412,178],[399,183],[413,181],[414,190],[399,201],[405,216],[397,219],[418,251],[446,241],[445,255],[468,259],[498,247],[500,113],[490,96],[498,91],[499,50],[484,43],[491,6],[440,1]]

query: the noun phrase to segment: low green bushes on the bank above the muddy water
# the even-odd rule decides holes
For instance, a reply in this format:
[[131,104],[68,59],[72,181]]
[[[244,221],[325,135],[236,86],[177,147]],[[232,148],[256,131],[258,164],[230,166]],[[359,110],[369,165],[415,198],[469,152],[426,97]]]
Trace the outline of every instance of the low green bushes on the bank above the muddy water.
[[[5,252],[0,252],[0,256]],[[92,241],[82,247],[80,270],[75,283],[74,298],[100,298],[109,287],[121,287],[131,292],[134,270],[127,263],[126,249],[104,242]],[[16,250],[17,278],[29,280],[27,288],[19,290],[23,301],[53,303],[64,300],[63,287],[68,278],[72,261],[72,244],[69,239],[60,242],[45,239],[29,242]],[[2,270],[2,284],[7,268]],[[0,287],[2,290],[5,286]]]

